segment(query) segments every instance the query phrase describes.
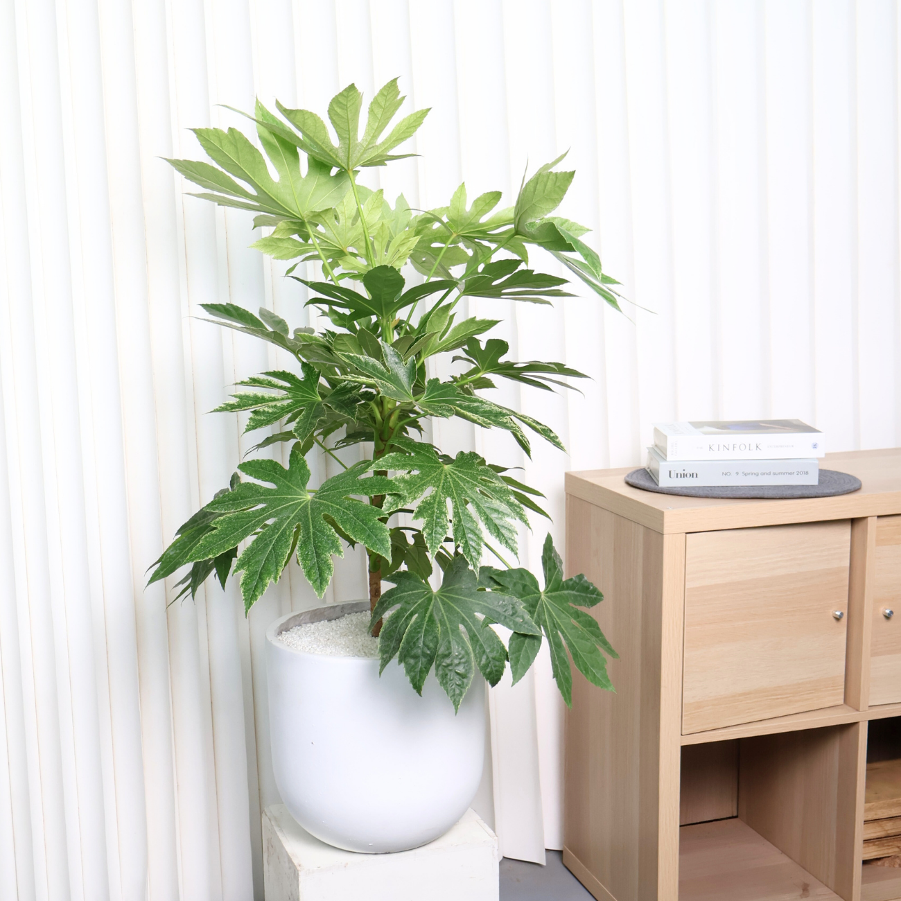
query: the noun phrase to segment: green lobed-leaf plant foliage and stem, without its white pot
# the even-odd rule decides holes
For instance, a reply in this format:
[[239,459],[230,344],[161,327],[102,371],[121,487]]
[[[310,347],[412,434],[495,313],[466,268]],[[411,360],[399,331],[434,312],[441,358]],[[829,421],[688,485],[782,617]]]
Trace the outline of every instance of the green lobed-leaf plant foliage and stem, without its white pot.
[[[292,328],[268,309],[203,305],[215,322],[296,361],[241,381],[245,390],[218,408],[249,412],[246,431],[263,434],[254,450],[287,442],[288,465],[242,462],[231,484],[178,530],[150,581],[190,564],[178,596],[194,596],[212,574],[224,587],[233,568],[249,610],[292,555],[323,596],[332,558],[345,545],[362,545],[382,669],[397,657],[421,692],[434,667],[459,706],[477,667],[496,685],[509,660],[514,681],[522,678],[543,635],[569,704],[570,658],[590,682],[612,687],[605,654],[616,656],[614,649],[580,609],[596,605],[601,593],[584,576],[563,578],[550,534],[543,587],[526,569],[510,568],[499,548],[516,554],[527,511],[547,516],[542,494],[503,462],[443,453],[424,440],[423,421],[459,416],[510,432],[526,454],[534,436],[563,450],[547,425],[481,392],[498,379],[553,390],[582,374],[562,363],[508,359],[507,343],[488,337],[499,320],[465,316],[460,302],[550,304],[570,296],[566,279],[529,268],[535,247],[616,309],[618,283],[580,240],[587,229],[551,215],[574,176],[557,168],[563,157],[523,177],[515,204],[504,209],[499,191],[469,203],[460,185],[449,205],[419,211],[403,195],[392,206],[381,190],[359,184],[360,169],[412,155],[392,151],[428,110],[392,125],[404,99],[396,79],[382,87],[360,137],[362,96],[353,85],[344,88],[328,107],[337,143],[318,115],[278,103],[277,115],[258,102],[248,118],[259,147],[233,128],[198,128],[212,163],[169,160],[204,189],[195,196],[257,214],[254,227],[271,231],[252,246],[293,261],[287,275],[307,287],[306,305],[329,327]],[[316,270],[320,278],[303,278]],[[458,373],[441,380],[432,361],[448,354]],[[353,445],[366,459],[347,466],[335,451]],[[343,471],[310,487],[311,452],[332,455]],[[482,566],[484,551],[504,568]],[[384,595],[383,580],[394,585]],[[494,623],[511,630],[507,647]]]

